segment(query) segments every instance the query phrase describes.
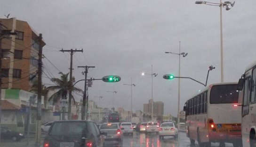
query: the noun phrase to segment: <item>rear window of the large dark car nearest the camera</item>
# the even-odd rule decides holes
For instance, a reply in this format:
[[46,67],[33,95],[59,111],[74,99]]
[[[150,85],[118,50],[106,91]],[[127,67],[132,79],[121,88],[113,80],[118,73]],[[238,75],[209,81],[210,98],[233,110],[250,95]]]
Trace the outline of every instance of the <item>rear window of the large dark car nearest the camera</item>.
[[82,135],[86,132],[86,122],[55,122],[49,131],[49,135]]

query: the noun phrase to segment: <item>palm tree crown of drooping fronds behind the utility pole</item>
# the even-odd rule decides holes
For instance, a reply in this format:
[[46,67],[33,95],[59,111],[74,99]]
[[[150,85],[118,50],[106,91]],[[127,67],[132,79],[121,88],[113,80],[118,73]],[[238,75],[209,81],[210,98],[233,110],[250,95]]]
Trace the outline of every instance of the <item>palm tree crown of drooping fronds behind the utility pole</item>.
[[[55,86],[49,86],[48,90],[58,90],[56,93],[54,93],[52,96],[49,97],[48,101],[53,100],[53,104],[57,103],[60,99],[67,99],[68,91],[70,88],[72,88],[72,92],[82,92],[80,88],[76,88],[73,85],[71,85],[75,78],[72,77],[72,82],[68,79],[68,74],[63,74],[62,72],[60,74],[60,79],[58,78],[51,78],[51,81],[54,82]],[[72,95],[72,100],[75,103],[74,96]]]

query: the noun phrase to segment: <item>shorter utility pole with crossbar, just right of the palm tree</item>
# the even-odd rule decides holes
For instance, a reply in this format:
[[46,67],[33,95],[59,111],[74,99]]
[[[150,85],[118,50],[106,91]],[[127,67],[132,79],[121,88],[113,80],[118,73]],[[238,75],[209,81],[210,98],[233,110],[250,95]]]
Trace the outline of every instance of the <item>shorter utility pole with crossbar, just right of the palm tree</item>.
[[[88,74],[88,69],[89,68],[95,68],[95,66],[77,66],[77,67],[78,68],[85,68],[85,71],[82,72],[82,74],[85,75],[85,82],[84,82],[84,95],[83,95],[82,110],[81,110],[81,119],[85,120],[86,103],[87,103],[87,109],[88,109],[88,96],[86,96],[86,91],[87,91],[87,74]],[[88,118],[88,115],[86,115],[86,120],[87,120],[87,118]]]

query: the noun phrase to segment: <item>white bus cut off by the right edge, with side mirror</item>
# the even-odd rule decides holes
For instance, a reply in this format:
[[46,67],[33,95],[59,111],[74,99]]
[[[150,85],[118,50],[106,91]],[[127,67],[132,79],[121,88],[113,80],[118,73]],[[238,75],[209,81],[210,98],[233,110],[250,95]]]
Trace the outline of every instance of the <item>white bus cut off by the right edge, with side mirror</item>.
[[256,62],[248,66],[238,82],[242,103],[243,147],[256,147]]

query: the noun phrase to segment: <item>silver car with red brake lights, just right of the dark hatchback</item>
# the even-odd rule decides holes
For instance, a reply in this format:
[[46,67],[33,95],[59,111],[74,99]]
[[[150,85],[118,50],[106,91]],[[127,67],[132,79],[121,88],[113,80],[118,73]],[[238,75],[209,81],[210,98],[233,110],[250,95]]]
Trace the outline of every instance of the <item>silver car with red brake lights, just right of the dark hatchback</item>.
[[123,143],[124,128],[120,128],[120,123],[104,123],[100,126],[100,131],[107,134],[105,141],[117,141],[118,144]]

